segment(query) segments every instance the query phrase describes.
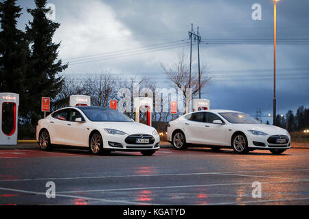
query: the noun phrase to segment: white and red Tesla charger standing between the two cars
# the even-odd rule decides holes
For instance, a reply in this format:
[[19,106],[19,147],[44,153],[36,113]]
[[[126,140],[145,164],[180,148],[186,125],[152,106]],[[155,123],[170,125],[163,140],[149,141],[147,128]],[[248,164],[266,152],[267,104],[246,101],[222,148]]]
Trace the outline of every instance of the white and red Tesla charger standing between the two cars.
[[141,123],[141,115],[146,113],[146,125],[152,125],[153,100],[150,97],[135,97],[133,99],[133,109],[135,112],[135,122]]

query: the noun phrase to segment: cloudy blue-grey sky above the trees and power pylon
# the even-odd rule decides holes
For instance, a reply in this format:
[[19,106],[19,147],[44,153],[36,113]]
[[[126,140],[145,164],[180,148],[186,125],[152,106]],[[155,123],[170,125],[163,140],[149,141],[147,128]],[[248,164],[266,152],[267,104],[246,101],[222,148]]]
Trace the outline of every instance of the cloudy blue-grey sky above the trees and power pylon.
[[[20,0],[19,28],[32,19],[33,1]],[[187,31],[199,27],[201,65],[211,82],[202,98],[213,109],[255,115],[273,112],[273,0],[103,1],[54,0],[59,57],[69,62],[65,74],[139,75],[172,87],[160,62],[189,55]],[[253,21],[253,3],[262,20]],[[309,0],[277,2],[277,113],[309,107]],[[117,53],[113,53],[117,51]],[[197,45],[193,46],[197,70]],[[265,118],[264,118],[265,119]],[[272,118],[269,118],[272,121]]]

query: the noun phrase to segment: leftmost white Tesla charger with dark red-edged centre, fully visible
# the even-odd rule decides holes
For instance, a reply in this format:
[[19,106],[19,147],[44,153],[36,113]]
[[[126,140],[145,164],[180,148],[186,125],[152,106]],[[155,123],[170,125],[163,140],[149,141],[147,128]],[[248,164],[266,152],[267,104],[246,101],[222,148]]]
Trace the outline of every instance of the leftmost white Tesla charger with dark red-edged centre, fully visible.
[[17,145],[19,94],[0,93],[0,145]]

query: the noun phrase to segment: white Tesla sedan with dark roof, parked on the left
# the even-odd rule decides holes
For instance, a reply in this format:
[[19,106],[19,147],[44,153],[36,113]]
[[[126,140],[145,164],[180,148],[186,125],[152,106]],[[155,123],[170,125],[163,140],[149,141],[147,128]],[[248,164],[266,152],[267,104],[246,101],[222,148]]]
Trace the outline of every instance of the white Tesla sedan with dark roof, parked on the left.
[[104,107],[65,107],[38,120],[36,141],[42,150],[53,144],[89,147],[98,155],[109,151],[159,150],[159,134],[153,127],[135,123],[128,116]]

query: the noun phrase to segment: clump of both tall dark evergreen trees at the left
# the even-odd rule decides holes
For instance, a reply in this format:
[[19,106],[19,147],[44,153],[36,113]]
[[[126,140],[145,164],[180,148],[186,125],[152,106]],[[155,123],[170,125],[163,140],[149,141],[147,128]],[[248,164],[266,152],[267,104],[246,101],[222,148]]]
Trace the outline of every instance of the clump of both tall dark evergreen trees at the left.
[[67,68],[58,60],[59,43],[53,36],[60,27],[46,17],[46,0],[35,0],[27,8],[32,21],[17,28],[22,8],[16,0],[0,2],[0,92],[20,95],[19,125],[35,127],[41,118],[41,97],[55,99],[64,83],[58,75]]

